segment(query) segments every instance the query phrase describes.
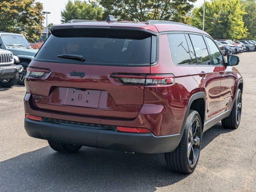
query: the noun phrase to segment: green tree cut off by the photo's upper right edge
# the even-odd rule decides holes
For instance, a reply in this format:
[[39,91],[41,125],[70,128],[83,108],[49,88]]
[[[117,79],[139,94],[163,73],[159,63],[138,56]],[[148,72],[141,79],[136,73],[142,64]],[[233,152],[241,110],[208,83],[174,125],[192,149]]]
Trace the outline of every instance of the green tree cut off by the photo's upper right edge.
[[248,29],[248,39],[256,39],[256,2],[243,0],[242,6],[247,14],[243,16],[244,26]]

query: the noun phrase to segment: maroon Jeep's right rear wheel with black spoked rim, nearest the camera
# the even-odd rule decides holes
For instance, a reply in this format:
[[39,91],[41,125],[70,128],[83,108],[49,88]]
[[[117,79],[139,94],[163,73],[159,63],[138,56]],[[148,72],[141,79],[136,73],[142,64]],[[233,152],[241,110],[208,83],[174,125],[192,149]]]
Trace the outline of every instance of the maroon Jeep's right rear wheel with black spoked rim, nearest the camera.
[[[193,139],[191,139],[191,135],[193,135]],[[200,156],[201,142],[202,122],[200,115],[197,111],[190,110],[180,144],[173,152],[164,154],[167,167],[177,173],[189,174],[194,172]],[[188,150],[189,148],[190,150]],[[192,156],[193,159],[190,160]]]

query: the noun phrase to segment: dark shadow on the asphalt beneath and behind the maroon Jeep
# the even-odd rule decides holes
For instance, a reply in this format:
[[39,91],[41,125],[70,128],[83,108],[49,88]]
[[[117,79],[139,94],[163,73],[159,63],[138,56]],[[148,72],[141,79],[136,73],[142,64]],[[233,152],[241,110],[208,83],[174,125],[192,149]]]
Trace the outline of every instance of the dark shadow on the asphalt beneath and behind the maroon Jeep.
[[[207,130],[202,149],[230,131],[221,124]],[[164,154],[124,154],[89,147],[76,154],[60,154],[47,146],[0,162],[0,191],[148,192],[187,176],[169,172]]]

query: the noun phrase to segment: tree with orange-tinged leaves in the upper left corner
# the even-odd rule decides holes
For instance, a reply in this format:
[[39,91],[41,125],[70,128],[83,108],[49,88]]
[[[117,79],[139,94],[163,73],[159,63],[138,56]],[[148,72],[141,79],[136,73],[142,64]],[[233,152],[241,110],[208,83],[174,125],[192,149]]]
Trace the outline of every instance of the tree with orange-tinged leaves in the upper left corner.
[[43,30],[42,10],[35,0],[0,0],[0,31],[21,33],[35,42]]

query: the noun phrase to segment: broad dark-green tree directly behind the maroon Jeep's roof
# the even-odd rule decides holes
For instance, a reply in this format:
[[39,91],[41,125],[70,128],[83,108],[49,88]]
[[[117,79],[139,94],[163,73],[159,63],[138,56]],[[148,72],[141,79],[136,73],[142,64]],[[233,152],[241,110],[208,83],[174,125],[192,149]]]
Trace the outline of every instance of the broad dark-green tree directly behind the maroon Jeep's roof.
[[172,20],[184,22],[196,0],[98,0],[108,14],[119,20]]

